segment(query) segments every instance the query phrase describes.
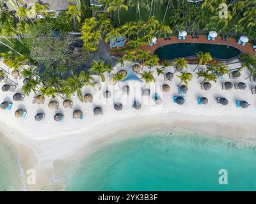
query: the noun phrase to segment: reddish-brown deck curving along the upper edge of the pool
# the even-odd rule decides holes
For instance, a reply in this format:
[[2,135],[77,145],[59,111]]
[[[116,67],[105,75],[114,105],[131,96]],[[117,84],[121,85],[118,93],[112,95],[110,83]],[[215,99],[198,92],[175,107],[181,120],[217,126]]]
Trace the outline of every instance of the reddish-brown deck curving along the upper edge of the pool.
[[[160,38],[157,40],[157,44],[153,46],[145,45],[141,47],[141,49],[145,51],[150,51],[151,54],[154,54],[156,48],[162,47],[163,45],[170,45],[174,43],[207,43],[207,44],[216,44],[216,45],[228,45],[232,47],[236,47],[243,54],[256,54],[253,50],[252,43],[246,43],[244,46],[237,44],[237,39],[235,38],[228,38],[228,41],[221,40],[221,36],[215,38],[215,41],[207,40],[207,36],[200,35],[200,38],[192,38],[191,35],[186,36],[186,40],[179,40],[178,36],[172,36],[172,40],[164,40],[164,38]],[[112,50],[118,50],[117,48],[113,48]],[[125,52],[111,52],[111,55],[122,56]]]

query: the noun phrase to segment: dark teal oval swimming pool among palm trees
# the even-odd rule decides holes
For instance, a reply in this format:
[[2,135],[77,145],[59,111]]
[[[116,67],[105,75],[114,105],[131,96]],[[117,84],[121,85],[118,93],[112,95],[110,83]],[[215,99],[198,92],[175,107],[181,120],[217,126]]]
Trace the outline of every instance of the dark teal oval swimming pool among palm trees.
[[173,60],[179,57],[192,57],[198,52],[209,52],[214,59],[228,60],[241,54],[237,48],[227,45],[214,45],[204,43],[174,43],[156,48],[154,54],[161,60]]

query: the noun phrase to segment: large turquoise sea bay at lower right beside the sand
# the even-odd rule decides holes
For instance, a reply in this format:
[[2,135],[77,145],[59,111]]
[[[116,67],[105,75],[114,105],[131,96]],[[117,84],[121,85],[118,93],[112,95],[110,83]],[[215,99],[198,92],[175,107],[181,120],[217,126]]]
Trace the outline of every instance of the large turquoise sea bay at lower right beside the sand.
[[[228,171],[220,185],[219,170]],[[66,191],[255,191],[256,148],[150,133],[111,143],[65,172]]]

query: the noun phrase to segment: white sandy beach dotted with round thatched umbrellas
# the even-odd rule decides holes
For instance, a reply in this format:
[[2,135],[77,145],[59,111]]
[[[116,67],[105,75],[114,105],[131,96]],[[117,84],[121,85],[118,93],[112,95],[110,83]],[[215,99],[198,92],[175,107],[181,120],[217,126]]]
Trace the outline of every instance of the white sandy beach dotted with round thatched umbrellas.
[[[0,66],[8,70],[3,62],[0,62]],[[188,71],[193,73],[195,66],[189,65]],[[120,69],[128,71],[130,67],[129,62],[125,62],[124,68],[117,65],[109,76],[111,77],[113,73]],[[239,67],[239,64],[233,64],[230,69],[237,67]],[[144,68],[144,70],[147,70],[147,68]],[[179,78],[174,77],[171,82],[164,82],[164,76],[158,77],[155,67],[152,68],[152,71],[155,71],[154,75],[157,82],[160,83],[157,89],[160,91],[161,83],[166,83],[170,85],[170,91],[163,93],[158,91],[163,99],[163,104],[158,106],[153,103],[154,92],[150,92],[150,105],[145,104],[145,101],[148,101],[148,96],[143,96],[140,99],[142,103],[140,110],[132,108],[131,99],[129,100],[131,104],[125,105],[125,96],[122,96],[120,100],[118,99],[118,94],[114,98],[109,98],[108,104],[104,102],[105,99],[103,97],[93,101],[93,103],[82,103],[76,96],[72,96],[73,108],[64,108],[62,105],[63,99],[57,97],[55,100],[60,103],[57,110],[48,108],[48,103],[51,101],[50,98],[45,98],[44,104],[33,104],[33,96],[35,96],[33,93],[30,96],[26,96],[24,101],[12,101],[12,96],[15,92],[22,92],[23,78],[16,80],[19,86],[15,92],[1,91],[1,102],[5,100],[12,101],[13,106],[12,110],[1,110],[0,129],[19,151],[24,172],[31,168],[36,170],[36,185],[27,185],[27,189],[29,191],[40,190],[47,185],[54,170],[54,161],[72,157],[79,154],[78,152],[86,152],[86,147],[89,145],[92,147],[93,144],[100,143],[119,131],[138,126],[170,124],[170,126],[209,131],[216,135],[230,138],[244,138],[252,142],[256,139],[256,99],[251,92],[251,87],[255,87],[256,83],[244,79],[248,77],[247,71],[243,71],[241,77],[236,80],[230,80],[228,76],[225,76],[226,80],[218,79],[216,84],[211,82],[212,88],[210,91],[201,90],[200,82],[202,79],[196,78],[196,74],[193,73],[193,80],[189,82],[189,91],[186,94],[186,103],[184,105],[173,103],[173,96],[179,95],[177,88]],[[166,68],[164,73],[168,71],[173,73],[173,66]],[[176,73],[176,75],[180,74]],[[9,77],[12,78],[12,75]],[[13,80],[15,79],[13,78]],[[95,77],[95,82],[98,80],[99,78]],[[244,82],[247,85],[247,89],[244,91],[235,90],[234,88],[229,91],[222,90],[221,85],[226,81],[232,83]],[[3,84],[2,82],[1,85]],[[121,87],[117,83],[112,88],[122,90],[122,83],[119,85]],[[113,90],[111,85],[107,86],[109,90]],[[84,94],[92,93],[93,96],[101,96],[105,90],[106,87],[102,85],[102,91],[100,92],[97,92],[93,87],[86,87],[83,92]],[[207,97],[209,103],[199,106],[197,98],[202,96]],[[229,104],[227,106],[217,104],[217,97],[227,98]],[[237,99],[248,101],[251,105],[248,108],[237,108]],[[123,110],[116,111],[113,108],[113,101],[122,102]],[[97,105],[102,106],[103,115],[95,116],[93,114],[93,108]],[[18,108],[27,110],[28,113],[25,119],[14,116],[15,110]],[[76,109],[83,111],[83,120],[72,118],[72,113]],[[34,117],[38,112],[45,113],[44,122],[35,121]],[[57,112],[63,113],[64,122],[54,121],[53,117]]]

